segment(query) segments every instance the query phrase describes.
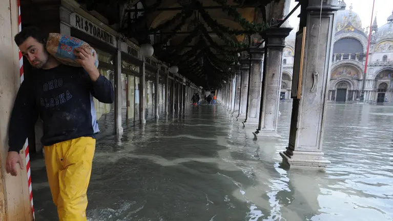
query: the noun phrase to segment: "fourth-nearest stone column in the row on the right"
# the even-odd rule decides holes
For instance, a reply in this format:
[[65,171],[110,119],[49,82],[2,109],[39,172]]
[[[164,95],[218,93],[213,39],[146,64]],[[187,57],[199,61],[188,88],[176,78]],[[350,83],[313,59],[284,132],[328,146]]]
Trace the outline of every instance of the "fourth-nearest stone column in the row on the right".
[[238,119],[244,119],[247,111],[247,96],[249,94],[249,70],[250,62],[248,59],[241,61],[241,88],[240,88],[240,110]]

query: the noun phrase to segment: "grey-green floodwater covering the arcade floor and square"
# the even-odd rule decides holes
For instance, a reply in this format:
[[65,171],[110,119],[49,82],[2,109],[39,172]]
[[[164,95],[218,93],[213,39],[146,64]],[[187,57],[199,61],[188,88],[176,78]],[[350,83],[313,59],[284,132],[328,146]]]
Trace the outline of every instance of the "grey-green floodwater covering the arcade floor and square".
[[[328,104],[325,173],[280,168],[291,108],[280,104],[277,142],[219,105],[97,140],[88,220],[391,221],[393,107]],[[41,159],[32,181],[37,220],[57,220]]]

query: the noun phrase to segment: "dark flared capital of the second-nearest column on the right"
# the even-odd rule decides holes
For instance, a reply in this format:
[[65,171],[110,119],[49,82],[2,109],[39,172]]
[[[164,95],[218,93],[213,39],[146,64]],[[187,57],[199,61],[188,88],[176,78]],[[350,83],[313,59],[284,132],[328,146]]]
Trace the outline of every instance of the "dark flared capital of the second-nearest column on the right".
[[265,47],[267,48],[284,48],[285,37],[293,28],[268,28],[261,33],[261,36],[266,39]]

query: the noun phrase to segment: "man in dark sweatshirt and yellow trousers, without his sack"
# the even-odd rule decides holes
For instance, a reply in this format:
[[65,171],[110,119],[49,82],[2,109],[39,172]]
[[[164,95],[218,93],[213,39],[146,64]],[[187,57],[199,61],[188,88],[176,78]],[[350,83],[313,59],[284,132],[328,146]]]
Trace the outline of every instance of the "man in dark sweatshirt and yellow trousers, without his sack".
[[98,133],[93,97],[114,101],[112,83],[95,66],[96,54],[76,48],[81,67],[61,64],[46,48],[46,36],[34,27],[23,29],[15,43],[35,68],[20,85],[9,126],[7,173],[24,168],[19,151],[37,120],[43,120],[45,165],[60,221],[86,221],[87,188]]

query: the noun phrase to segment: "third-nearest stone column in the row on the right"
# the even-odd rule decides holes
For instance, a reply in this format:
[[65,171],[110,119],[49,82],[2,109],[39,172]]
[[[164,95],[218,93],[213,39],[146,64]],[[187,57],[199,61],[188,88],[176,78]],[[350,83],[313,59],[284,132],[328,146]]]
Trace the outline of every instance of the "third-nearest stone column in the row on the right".
[[262,78],[263,52],[258,48],[251,48],[251,73],[249,75],[249,95],[247,97],[247,112],[243,121],[244,126],[257,126],[259,117],[260,84]]

